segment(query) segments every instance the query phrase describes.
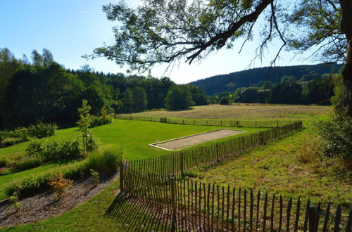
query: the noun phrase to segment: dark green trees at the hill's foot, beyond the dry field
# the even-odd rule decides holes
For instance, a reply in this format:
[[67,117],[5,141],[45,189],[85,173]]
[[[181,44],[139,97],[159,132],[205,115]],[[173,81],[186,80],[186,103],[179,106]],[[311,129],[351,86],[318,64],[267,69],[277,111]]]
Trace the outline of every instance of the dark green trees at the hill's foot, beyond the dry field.
[[281,103],[281,104],[321,104],[329,105],[334,96],[335,86],[341,84],[337,74],[284,75],[276,84],[270,81],[258,82],[249,87],[241,87],[229,93],[215,94],[210,103]]

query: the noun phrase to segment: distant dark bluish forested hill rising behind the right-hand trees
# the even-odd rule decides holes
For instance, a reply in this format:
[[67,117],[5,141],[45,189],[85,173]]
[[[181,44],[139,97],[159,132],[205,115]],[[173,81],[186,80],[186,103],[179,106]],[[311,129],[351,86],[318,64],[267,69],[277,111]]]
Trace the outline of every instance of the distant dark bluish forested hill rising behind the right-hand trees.
[[[318,65],[296,65],[282,67],[258,67],[250,70],[232,72],[225,75],[216,75],[206,79],[199,79],[189,84],[195,84],[206,91],[206,94],[213,95],[223,91],[235,91],[239,87],[248,87],[258,82],[270,81],[272,84],[279,82],[284,75],[295,76],[301,79],[303,75],[320,75],[337,73],[341,65],[336,63]],[[316,75],[318,74],[318,75]]]

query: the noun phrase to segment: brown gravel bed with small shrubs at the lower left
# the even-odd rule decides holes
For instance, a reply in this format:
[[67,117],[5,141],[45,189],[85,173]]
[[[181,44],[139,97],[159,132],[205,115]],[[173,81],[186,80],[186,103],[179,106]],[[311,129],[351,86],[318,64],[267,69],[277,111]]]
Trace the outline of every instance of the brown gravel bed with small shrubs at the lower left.
[[67,212],[103,191],[116,178],[117,175],[101,177],[98,186],[95,185],[92,177],[82,181],[75,181],[72,188],[66,192],[66,196],[61,199],[57,199],[51,191],[25,198],[20,200],[20,210],[18,212],[15,212],[15,208],[10,202],[1,202],[0,228],[42,221]]

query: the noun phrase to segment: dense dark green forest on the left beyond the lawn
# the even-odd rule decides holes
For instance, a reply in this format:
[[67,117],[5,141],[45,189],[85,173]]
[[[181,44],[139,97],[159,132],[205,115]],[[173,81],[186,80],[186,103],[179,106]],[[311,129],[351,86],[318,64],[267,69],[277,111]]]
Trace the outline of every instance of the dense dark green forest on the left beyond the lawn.
[[[179,98],[180,94],[187,97]],[[32,51],[31,60],[0,49],[0,129],[37,122],[73,124],[83,99],[92,115],[101,114],[103,108],[110,113],[130,113],[207,104],[199,86],[177,85],[168,77],[105,74],[87,65],[69,70],[56,63],[47,49],[42,54]]]

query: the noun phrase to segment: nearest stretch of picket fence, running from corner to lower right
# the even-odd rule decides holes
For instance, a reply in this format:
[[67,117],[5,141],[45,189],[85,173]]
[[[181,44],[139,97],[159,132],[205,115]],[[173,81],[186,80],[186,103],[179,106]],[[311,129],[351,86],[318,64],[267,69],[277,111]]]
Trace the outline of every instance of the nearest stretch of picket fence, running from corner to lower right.
[[122,193],[163,212],[171,231],[351,231],[352,212],[341,205],[121,170]]

